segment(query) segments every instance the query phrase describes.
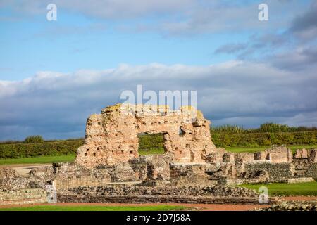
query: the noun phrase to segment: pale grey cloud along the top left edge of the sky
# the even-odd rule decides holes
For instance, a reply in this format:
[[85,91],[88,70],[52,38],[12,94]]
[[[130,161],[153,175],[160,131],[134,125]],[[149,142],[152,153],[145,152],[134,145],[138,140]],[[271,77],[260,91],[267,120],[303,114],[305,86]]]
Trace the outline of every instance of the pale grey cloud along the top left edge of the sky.
[[[194,2],[194,0],[55,0],[54,4],[58,9],[83,13],[93,18],[126,19],[182,11],[193,6]],[[51,3],[51,0],[2,0],[0,6],[10,6],[17,12],[35,15],[46,13],[46,6]]]

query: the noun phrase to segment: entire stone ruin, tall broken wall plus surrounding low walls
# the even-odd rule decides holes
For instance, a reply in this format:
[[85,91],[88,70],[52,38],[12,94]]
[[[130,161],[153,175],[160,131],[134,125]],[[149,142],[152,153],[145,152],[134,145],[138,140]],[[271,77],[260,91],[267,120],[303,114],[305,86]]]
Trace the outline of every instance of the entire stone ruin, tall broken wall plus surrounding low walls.
[[[109,106],[87,119],[75,162],[37,167],[28,177],[0,169],[0,204],[25,203],[25,194],[11,198],[20,190],[36,203],[53,190],[58,202],[256,204],[258,193],[235,185],[317,179],[317,150],[230,153],[213,145],[209,126],[191,107]],[[138,134],[144,133],[163,134],[165,152],[140,156]],[[53,195],[47,193],[48,202]]]

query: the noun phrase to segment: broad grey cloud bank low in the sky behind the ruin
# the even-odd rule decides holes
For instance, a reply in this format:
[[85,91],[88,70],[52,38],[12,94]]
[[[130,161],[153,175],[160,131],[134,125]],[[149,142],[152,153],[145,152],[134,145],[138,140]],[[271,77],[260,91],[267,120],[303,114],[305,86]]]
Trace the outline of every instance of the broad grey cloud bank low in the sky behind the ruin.
[[197,105],[214,124],[244,127],[261,122],[317,125],[317,77],[260,63],[218,65],[119,65],[108,70],[37,72],[20,81],[0,81],[0,139],[41,134],[46,139],[83,136],[85,120],[120,102],[124,90],[197,90]]

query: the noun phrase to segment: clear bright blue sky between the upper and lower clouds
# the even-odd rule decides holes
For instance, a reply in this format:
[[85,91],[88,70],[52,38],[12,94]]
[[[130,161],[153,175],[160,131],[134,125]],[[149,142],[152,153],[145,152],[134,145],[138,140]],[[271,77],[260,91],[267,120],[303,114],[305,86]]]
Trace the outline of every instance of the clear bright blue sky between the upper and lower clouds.
[[[1,13],[11,16],[4,8]],[[58,8],[58,20],[54,22],[46,20],[45,12],[32,18],[17,17],[17,21],[0,23],[1,68],[7,69],[1,72],[0,79],[24,79],[42,70],[103,70],[121,63],[210,65],[235,58],[213,54],[229,37],[236,41],[248,37],[247,32],[195,37],[139,32],[134,30],[137,21],[97,20],[68,13],[63,8]],[[128,27],[127,31],[120,30],[123,25]]]

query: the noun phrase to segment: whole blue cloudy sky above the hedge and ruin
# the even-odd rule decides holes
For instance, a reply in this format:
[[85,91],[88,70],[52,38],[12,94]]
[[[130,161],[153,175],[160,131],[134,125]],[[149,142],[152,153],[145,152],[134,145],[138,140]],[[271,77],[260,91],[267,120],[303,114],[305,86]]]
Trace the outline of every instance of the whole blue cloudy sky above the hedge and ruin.
[[0,0],[0,140],[82,137],[137,84],[213,125],[317,126],[317,1]]

